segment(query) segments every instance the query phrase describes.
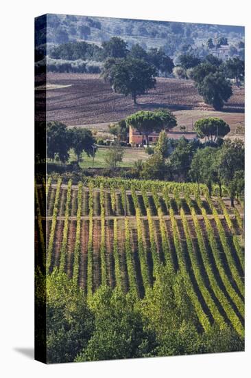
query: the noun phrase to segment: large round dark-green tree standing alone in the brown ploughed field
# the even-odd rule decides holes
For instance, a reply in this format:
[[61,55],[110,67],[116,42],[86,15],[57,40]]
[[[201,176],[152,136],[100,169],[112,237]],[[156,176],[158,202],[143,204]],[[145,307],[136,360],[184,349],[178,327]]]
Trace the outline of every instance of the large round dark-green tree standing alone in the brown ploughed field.
[[106,62],[102,76],[116,93],[131,95],[136,104],[136,96],[155,87],[156,74],[156,69],[144,60],[127,58]]

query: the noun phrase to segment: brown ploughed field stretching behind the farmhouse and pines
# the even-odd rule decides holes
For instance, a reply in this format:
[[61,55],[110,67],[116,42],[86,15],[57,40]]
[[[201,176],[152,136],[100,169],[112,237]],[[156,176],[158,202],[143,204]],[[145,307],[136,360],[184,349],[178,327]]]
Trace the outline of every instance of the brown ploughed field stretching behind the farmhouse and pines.
[[[157,78],[156,89],[139,96],[136,106],[129,96],[113,93],[110,85],[99,75],[50,72],[47,82],[49,85],[69,85],[47,89],[47,120],[57,120],[69,126],[93,125],[98,131],[107,131],[110,122],[121,120],[141,109],[154,110],[160,107],[177,111],[178,124],[189,126],[202,116],[200,111],[213,111],[212,107],[204,104],[192,80]],[[233,91],[224,113],[220,115],[226,115],[226,122],[236,126],[244,122],[244,89],[233,87]],[[36,91],[37,103],[41,96],[43,91]],[[39,105],[37,110],[39,119]],[[199,112],[190,113],[191,110]],[[212,115],[219,116],[219,112],[213,111]]]

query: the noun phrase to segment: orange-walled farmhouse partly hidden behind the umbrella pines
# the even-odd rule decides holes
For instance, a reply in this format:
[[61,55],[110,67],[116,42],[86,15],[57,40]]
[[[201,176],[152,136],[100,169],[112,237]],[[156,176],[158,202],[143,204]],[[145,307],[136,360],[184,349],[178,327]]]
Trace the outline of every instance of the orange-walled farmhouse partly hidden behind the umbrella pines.
[[[172,131],[167,130],[167,137],[170,139],[178,140],[180,137],[185,137],[187,140],[198,139],[197,133],[195,131]],[[158,141],[159,133],[152,133],[149,135],[149,143],[154,144]],[[132,145],[142,144],[143,135],[136,131],[132,126],[129,127],[129,143]],[[143,144],[146,144],[145,137],[143,139]]]

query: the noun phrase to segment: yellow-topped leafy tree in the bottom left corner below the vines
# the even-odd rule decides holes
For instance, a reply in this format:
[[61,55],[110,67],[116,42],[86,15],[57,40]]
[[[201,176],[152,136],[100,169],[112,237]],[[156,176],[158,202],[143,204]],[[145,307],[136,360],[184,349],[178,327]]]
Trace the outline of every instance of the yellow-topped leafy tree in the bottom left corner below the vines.
[[58,271],[46,278],[47,362],[73,362],[93,333],[93,315],[84,292],[67,274]]

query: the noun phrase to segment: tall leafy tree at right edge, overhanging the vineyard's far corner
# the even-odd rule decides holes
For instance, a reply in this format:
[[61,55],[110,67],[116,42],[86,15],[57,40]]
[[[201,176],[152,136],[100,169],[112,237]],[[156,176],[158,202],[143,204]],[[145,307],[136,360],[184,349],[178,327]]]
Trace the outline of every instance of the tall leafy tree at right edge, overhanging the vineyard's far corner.
[[244,144],[241,140],[226,140],[219,150],[219,177],[228,188],[231,205],[244,190]]

